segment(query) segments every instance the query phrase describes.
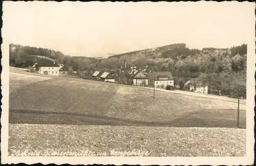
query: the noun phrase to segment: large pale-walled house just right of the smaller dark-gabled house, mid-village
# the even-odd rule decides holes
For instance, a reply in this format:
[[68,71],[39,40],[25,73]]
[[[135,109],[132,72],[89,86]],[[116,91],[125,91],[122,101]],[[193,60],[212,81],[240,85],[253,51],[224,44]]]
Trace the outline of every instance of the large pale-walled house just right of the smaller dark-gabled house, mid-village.
[[149,83],[155,88],[166,88],[167,85],[174,86],[174,78],[171,72],[152,72]]

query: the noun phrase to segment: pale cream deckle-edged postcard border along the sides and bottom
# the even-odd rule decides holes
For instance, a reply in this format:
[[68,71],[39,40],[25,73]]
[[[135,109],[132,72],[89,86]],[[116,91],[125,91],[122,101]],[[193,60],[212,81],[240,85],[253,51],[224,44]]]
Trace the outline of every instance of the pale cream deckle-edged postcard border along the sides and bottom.
[[[191,2],[186,2],[191,3]],[[193,2],[192,2],[193,3]],[[204,2],[202,2],[204,3]],[[207,2],[209,3],[209,2]],[[223,2],[227,3],[227,2]],[[237,2],[239,3],[239,2]],[[255,8],[255,4],[252,3]],[[252,5],[251,4],[251,5]],[[253,6],[252,5],[252,6]],[[4,6],[4,3],[3,3]],[[3,12],[3,15],[5,13]],[[5,37],[5,20],[2,28],[2,117],[1,117],[1,152],[2,163],[42,163],[42,164],[140,164],[140,165],[251,165],[254,161],[254,94],[255,94],[255,15],[251,11],[251,33],[247,51],[247,113],[246,113],[246,157],[10,157],[8,154],[8,109],[9,109],[9,40]]]

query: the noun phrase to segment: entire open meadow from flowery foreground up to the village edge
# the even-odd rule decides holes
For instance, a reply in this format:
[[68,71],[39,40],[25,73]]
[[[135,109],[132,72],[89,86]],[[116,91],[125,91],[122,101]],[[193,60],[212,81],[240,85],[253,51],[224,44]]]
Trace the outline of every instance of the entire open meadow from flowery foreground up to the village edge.
[[10,155],[111,155],[116,147],[148,156],[244,156],[245,103],[243,129],[236,127],[236,102],[159,90],[153,98],[153,90],[141,87],[10,70]]

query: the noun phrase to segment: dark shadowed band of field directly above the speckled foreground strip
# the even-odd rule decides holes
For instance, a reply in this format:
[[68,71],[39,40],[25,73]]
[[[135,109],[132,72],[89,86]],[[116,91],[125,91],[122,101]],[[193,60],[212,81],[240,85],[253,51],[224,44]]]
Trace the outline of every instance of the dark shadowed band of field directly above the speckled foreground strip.
[[[239,127],[246,128],[246,119],[241,117],[239,121]],[[155,127],[237,127],[237,120],[234,120],[233,118],[214,117],[196,111],[176,118],[173,121],[145,122],[115,118],[106,115],[12,109],[9,110],[9,123]]]

